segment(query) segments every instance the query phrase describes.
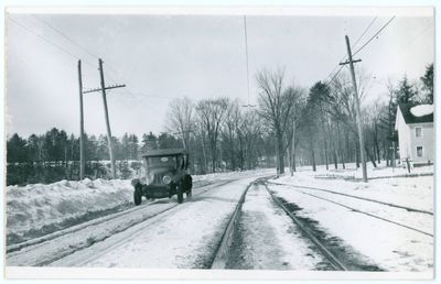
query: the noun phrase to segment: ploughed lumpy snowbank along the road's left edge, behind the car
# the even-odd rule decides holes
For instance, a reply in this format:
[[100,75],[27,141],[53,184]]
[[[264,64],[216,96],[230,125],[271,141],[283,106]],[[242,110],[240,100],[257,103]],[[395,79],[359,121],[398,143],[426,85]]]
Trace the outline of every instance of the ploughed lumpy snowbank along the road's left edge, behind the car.
[[[193,176],[194,186],[238,178],[259,171]],[[7,187],[7,234],[18,242],[128,207],[133,188],[129,179],[61,181]]]

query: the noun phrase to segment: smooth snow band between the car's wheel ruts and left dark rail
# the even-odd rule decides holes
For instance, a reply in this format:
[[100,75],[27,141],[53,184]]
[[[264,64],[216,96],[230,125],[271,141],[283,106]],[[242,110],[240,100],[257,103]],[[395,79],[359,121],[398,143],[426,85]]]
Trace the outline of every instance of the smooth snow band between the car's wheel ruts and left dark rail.
[[51,265],[208,269],[237,201],[257,177],[218,186]]

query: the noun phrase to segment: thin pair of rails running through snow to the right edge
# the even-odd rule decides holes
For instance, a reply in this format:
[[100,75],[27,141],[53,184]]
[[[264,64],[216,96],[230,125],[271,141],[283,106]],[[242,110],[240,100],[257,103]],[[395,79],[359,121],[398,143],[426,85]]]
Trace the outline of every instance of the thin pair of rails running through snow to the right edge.
[[[271,184],[276,184],[276,183],[271,183]],[[277,184],[277,185],[284,185],[284,184]],[[372,212],[362,210],[359,208],[355,208],[353,206],[348,206],[348,205],[343,204],[341,201],[335,201],[335,200],[332,200],[330,198],[326,198],[326,197],[323,197],[323,196],[319,196],[319,195],[315,195],[315,194],[312,194],[312,193],[309,193],[309,192],[316,190],[316,192],[322,192],[322,193],[326,193],[326,194],[331,194],[331,195],[344,196],[346,198],[354,198],[354,199],[358,199],[358,200],[363,200],[363,201],[375,203],[375,204],[378,204],[378,205],[381,205],[381,206],[388,206],[388,207],[394,207],[394,208],[398,208],[398,209],[404,209],[404,210],[407,210],[407,211],[412,212],[412,214],[426,215],[426,216],[428,216],[430,218],[432,218],[431,216],[433,216],[433,212],[426,211],[426,210],[420,210],[420,209],[416,209],[416,208],[409,208],[409,207],[405,207],[405,206],[399,206],[399,205],[394,205],[394,204],[389,204],[389,203],[384,203],[384,201],[380,201],[380,200],[374,200],[374,199],[370,199],[370,198],[364,198],[364,197],[359,197],[359,196],[354,196],[354,195],[349,195],[349,194],[343,194],[343,193],[329,190],[329,189],[323,189],[323,188],[315,188],[315,187],[308,187],[308,186],[295,186],[295,185],[292,185],[292,186],[288,185],[288,186],[294,187],[297,189],[297,192],[300,193],[300,194],[308,195],[308,196],[311,196],[313,198],[321,199],[321,200],[324,200],[324,201],[327,201],[327,203],[332,203],[334,205],[337,205],[337,206],[344,207],[346,209],[349,209],[349,210],[352,210],[354,212],[363,214],[363,215],[369,216],[372,218],[376,218],[376,219],[381,220],[381,221],[390,222],[390,223],[394,223],[396,226],[399,226],[399,227],[402,227],[402,228],[406,228],[406,229],[409,229],[409,230],[412,230],[412,231],[416,231],[418,233],[422,233],[422,234],[426,234],[426,236],[429,236],[429,237],[432,237],[432,238],[434,237],[433,233],[424,231],[424,230],[421,230],[421,229],[416,228],[413,226],[409,226],[409,225],[406,225],[406,223],[400,222],[400,221],[392,220],[392,219],[387,218],[387,217],[383,217],[383,216],[379,216],[379,215],[376,215],[376,214],[372,214]],[[309,192],[301,190],[300,188],[304,188],[304,189],[306,189]]]

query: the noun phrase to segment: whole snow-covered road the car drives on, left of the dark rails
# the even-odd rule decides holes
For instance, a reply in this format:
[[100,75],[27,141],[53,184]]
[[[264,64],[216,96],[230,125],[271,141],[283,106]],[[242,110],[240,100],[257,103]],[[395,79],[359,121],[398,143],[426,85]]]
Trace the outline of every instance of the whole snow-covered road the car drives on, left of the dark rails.
[[195,188],[182,205],[147,203],[44,236],[7,255],[10,266],[209,267],[238,199],[262,173]]

